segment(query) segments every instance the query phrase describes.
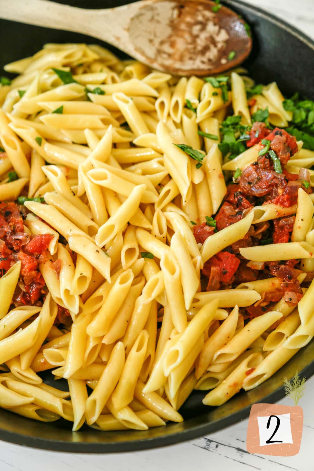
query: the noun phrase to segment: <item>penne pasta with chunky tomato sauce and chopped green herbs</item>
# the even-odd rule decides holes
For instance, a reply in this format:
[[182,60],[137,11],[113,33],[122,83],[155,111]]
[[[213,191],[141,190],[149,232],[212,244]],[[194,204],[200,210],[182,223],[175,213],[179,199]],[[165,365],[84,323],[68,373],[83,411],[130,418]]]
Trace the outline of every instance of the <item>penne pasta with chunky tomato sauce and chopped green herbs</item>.
[[194,389],[219,406],[258,386],[311,341],[314,102],[96,45],[46,44],[6,70],[1,407],[147,430],[181,422]]

